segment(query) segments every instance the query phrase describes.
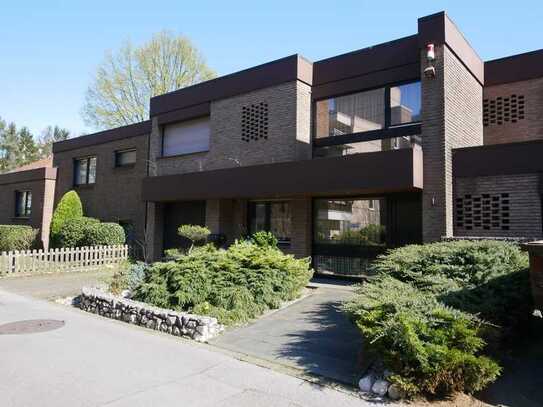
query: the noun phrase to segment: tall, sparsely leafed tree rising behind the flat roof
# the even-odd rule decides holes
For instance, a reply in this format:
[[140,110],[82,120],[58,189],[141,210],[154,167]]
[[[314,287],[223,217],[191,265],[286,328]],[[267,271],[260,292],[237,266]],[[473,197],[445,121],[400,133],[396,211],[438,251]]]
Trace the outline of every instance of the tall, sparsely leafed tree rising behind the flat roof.
[[87,90],[82,115],[106,129],[149,117],[149,99],[215,77],[191,41],[168,31],[141,47],[127,42],[108,52]]

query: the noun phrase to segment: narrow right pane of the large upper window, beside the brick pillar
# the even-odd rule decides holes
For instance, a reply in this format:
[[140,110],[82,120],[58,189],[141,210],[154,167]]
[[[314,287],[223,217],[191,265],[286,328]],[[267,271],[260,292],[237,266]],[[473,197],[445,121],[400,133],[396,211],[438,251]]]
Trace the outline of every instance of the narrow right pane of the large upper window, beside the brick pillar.
[[420,121],[420,82],[390,88],[390,124]]

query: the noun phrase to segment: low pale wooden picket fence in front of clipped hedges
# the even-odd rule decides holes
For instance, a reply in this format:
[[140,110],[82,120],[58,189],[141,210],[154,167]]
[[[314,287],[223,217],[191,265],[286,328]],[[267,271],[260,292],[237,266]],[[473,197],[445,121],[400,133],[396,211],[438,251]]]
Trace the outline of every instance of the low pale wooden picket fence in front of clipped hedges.
[[0,276],[97,271],[128,259],[128,246],[26,250],[0,254]]

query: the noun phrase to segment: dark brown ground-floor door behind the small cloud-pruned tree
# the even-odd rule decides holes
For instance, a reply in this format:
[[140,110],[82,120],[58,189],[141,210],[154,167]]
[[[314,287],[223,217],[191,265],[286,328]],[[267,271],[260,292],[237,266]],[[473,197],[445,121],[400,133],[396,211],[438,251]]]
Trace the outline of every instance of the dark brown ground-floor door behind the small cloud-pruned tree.
[[164,250],[188,248],[190,241],[179,236],[177,229],[181,225],[205,226],[205,221],[205,201],[170,202],[165,204]]

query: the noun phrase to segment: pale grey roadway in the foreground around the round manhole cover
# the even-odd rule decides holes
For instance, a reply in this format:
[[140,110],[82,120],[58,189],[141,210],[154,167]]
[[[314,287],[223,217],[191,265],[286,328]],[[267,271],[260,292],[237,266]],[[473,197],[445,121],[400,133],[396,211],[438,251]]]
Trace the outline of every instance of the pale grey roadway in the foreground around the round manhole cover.
[[31,319],[65,325],[0,335],[2,407],[370,405],[207,345],[0,289],[0,325]]

